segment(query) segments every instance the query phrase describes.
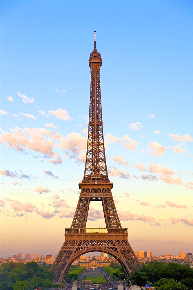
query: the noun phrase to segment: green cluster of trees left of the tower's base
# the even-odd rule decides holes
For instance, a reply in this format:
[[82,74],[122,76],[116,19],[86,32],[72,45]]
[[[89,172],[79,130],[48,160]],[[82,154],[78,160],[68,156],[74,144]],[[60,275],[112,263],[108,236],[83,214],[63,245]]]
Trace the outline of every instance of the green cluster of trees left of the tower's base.
[[53,287],[53,273],[46,263],[39,266],[36,262],[5,263],[0,267],[1,290],[32,290]]

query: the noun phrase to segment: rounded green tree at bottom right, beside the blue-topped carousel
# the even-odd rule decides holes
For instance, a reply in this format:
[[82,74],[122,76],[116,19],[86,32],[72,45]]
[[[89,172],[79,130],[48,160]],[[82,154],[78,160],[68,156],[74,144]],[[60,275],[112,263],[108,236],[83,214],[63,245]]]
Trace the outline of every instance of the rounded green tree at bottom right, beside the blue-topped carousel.
[[155,283],[155,290],[187,290],[187,287],[174,279],[162,278]]

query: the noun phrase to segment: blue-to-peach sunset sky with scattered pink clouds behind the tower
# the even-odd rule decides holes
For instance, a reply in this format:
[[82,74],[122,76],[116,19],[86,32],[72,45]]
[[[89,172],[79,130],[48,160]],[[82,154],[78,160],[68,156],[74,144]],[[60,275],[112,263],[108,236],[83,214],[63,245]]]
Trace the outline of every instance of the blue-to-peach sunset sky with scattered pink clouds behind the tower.
[[[93,30],[112,193],[129,242],[156,255],[191,252],[192,11],[192,1],[1,1],[1,255],[57,253],[71,225]],[[101,204],[90,207],[87,226],[104,225]]]

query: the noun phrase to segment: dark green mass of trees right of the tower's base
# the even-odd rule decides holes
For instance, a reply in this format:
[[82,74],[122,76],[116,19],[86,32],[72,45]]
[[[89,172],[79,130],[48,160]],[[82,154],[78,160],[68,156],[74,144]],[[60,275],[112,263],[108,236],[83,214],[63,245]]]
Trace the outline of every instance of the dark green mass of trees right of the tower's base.
[[148,281],[156,290],[193,289],[193,269],[189,265],[151,261],[143,269],[131,273],[132,284],[144,286]]

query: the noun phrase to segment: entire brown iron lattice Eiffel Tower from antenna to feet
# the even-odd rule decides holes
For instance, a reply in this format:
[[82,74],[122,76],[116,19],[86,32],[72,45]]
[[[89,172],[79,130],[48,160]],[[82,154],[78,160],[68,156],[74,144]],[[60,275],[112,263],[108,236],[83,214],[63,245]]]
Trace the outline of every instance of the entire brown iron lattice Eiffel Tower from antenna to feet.
[[[94,31],[94,50],[89,58],[90,108],[84,177],[79,182],[81,193],[72,225],[65,229],[65,241],[51,267],[56,282],[60,284],[63,279],[67,279],[72,262],[80,255],[93,251],[108,253],[116,258],[125,277],[142,268],[128,242],[128,229],[121,226],[111,193],[113,183],[108,179],[101,107],[101,65],[101,54],[97,51]],[[102,201],[106,227],[86,228],[89,203],[99,200]]]

